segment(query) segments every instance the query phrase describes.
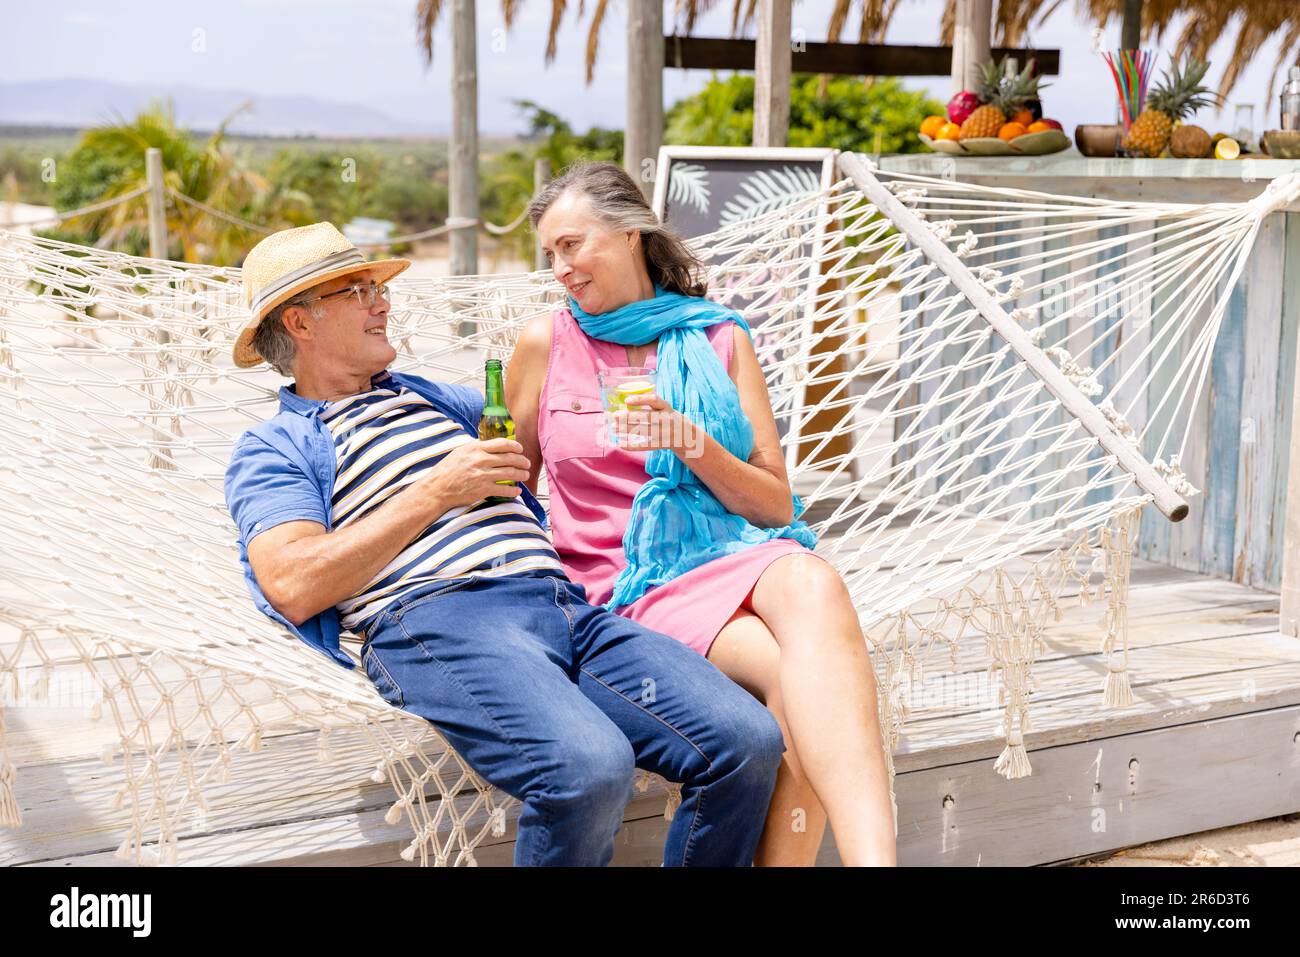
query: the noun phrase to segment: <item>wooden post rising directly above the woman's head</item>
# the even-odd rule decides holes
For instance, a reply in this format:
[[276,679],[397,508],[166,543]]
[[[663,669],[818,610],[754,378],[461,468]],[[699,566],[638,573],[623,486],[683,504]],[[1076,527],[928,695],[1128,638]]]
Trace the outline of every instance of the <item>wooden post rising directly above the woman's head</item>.
[[623,168],[646,202],[663,144],[663,4],[628,4],[628,117]]

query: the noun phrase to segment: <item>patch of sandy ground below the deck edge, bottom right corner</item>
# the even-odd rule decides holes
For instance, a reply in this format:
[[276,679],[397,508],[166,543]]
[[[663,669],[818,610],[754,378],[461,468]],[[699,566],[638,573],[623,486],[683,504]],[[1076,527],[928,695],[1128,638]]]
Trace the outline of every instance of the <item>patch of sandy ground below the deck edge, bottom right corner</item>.
[[1141,844],[1074,867],[1300,867],[1300,814]]

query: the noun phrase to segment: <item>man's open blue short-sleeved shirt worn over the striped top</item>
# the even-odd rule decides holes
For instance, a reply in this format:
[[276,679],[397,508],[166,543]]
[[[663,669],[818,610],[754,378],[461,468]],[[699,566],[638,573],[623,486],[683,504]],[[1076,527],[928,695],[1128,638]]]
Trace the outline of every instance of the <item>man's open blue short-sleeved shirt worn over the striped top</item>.
[[[380,372],[372,385],[404,386],[428,399],[437,411],[455,420],[474,438],[482,415],[484,397],[463,385],[433,382],[421,376]],[[257,585],[248,562],[248,542],[259,533],[286,521],[316,521],[332,529],[330,512],[334,492],[334,437],[321,411],[325,402],[304,399],[292,386],[280,390],[280,412],[244,432],[235,442],[226,467],[226,507],[239,529],[239,562],[244,584],[259,611],[287,628],[321,654],[343,667],[355,667],[339,650],[339,618],[326,609],[315,618],[294,625],[272,607]],[[546,511],[526,488],[521,499],[546,528]]]

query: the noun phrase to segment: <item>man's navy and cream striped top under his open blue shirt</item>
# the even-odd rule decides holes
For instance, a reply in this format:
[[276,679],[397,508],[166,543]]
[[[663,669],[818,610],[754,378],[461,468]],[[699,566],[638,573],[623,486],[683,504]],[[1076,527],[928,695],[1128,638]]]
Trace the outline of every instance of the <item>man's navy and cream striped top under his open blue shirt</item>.
[[[459,446],[474,441],[424,397],[402,386],[329,402],[321,411],[334,437],[334,528],[347,528],[420,480]],[[337,609],[341,624],[364,633],[385,607],[434,581],[523,572],[564,576],[550,538],[517,498],[458,506],[439,516]]]

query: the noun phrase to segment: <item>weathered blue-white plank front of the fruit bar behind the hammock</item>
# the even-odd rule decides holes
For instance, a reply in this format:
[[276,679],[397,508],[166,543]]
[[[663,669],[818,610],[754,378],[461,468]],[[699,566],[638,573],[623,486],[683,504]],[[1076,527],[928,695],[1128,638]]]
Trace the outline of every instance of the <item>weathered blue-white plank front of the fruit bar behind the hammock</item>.
[[[1024,185],[1028,189],[1044,187],[1040,181],[1000,182],[1011,186]],[[1046,187],[1060,189],[1062,192],[1088,192],[1079,186],[1072,190],[1069,185]],[[1166,185],[1165,190],[1167,189]],[[1092,195],[1100,195],[1100,191],[1093,191]],[[1187,200],[1187,196],[1154,194],[1139,198]],[[1130,231],[1144,228],[1134,226]],[[1074,241],[1082,243],[1097,238],[1114,238],[1121,234],[1119,230],[1121,228],[1105,228],[1080,234]],[[958,231],[965,231],[965,228]],[[1062,242],[1043,243],[1041,252],[1050,256],[1053,248]],[[1128,256],[1141,256],[1149,248],[1149,241],[1138,239],[1126,248]],[[978,268],[988,263],[988,259],[975,255],[968,263],[972,268]],[[1044,295],[1052,295],[1053,281],[1079,265],[1075,261],[1069,268],[1043,269],[1037,277],[1030,277],[1030,283],[1032,285],[1034,278],[1046,282],[1049,287],[1044,290]],[[1108,264],[1100,272],[1105,274],[1119,267],[1121,263]],[[1156,333],[1167,329],[1169,324],[1175,321],[1171,311],[1186,296],[1186,289],[1180,289],[1180,282],[1182,280],[1164,283],[1152,290],[1149,302],[1139,303],[1139,312],[1149,308],[1156,316]],[[1034,296],[1027,296],[1022,304],[1032,304],[1032,300]],[[1065,308],[1070,306],[1071,302],[1067,302]],[[907,307],[909,303],[905,302],[904,308]],[[1105,308],[1105,303],[1098,308]],[[1126,303],[1124,308],[1131,306]],[[1083,350],[1078,358],[1093,368],[1101,365],[1123,337],[1130,339],[1126,350],[1130,355],[1136,356],[1145,348],[1152,330],[1139,330],[1139,321],[1130,321],[1127,316],[1122,329],[1112,330],[1104,341],[1089,346],[1097,335],[1096,329],[1089,329],[1087,335],[1074,333],[1093,312],[1095,309],[1089,308],[1080,309],[1079,315],[1062,316],[1061,307],[1048,311],[1041,316],[1044,321],[1054,322],[1049,326],[1048,339],[1058,341],[1063,333],[1070,333],[1067,347],[1076,354]],[[1206,307],[1197,316],[1192,328],[1193,334],[1208,313]],[[1140,316],[1132,317],[1138,319]],[[1187,426],[1188,441],[1183,449],[1182,467],[1192,485],[1200,489],[1200,494],[1190,499],[1191,514],[1179,524],[1170,524],[1154,510],[1144,510],[1139,536],[1139,554],[1144,558],[1254,588],[1274,592],[1280,588],[1297,322],[1300,322],[1300,213],[1277,212],[1261,226],[1245,272],[1231,293],[1212,354],[1206,387]],[[1140,337],[1141,342],[1134,342],[1134,337]],[[982,351],[997,345],[996,341],[991,342]],[[1156,439],[1169,421],[1171,402],[1158,413],[1157,407],[1161,398],[1170,390],[1180,389],[1186,381],[1186,373],[1179,373],[1178,367],[1179,360],[1187,355],[1190,345],[1191,335],[1184,335],[1175,352],[1156,368],[1145,393],[1138,391],[1136,382],[1131,380],[1121,394],[1112,397],[1119,408],[1131,406],[1130,417],[1135,424],[1145,421],[1148,416],[1154,417],[1145,446],[1150,458],[1154,458]],[[1164,343],[1145,359],[1148,365],[1158,359],[1162,348]],[[956,360],[962,352],[965,347],[945,348],[944,359]],[[901,372],[906,374],[907,369]],[[1127,367],[1122,363],[1118,368],[1109,368],[1102,374],[1102,385],[1113,386],[1124,372]],[[968,384],[970,377],[971,373],[963,374],[963,385]],[[1144,377],[1145,373],[1139,376],[1138,381]],[[931,385],[922,385],[919,398],[924,398],[930,391],[932,391]],[[941,417],[942,412],[939,412],[926,424]],[[1013,426],[1011,434],[1020,430],[1023,426]],[[1164,450],[1166,459],[1178,451],[1180,439],[1179,425],[1171,434],[1173,447]],[[963,447],[963,451],[968,450]],[[909,452],[902,450],[902,454]],[[1063,465],[1063,460],[1058,462],[1061,458],[1056,455],[1053,462],[1044,463],[1044,467]],[[983,464],[989,467],[992,460],[989,456],[985,459]],[[1083,475],[1071,481],[1082,478]],[[1112,493],[1106,490],[1093,492],[1089,493],[1089,499],[1097,501],[1109,494]],[[1034,518],[1040,518],[1045,510],[1046,506],[1043,510],[1035,508]]]

